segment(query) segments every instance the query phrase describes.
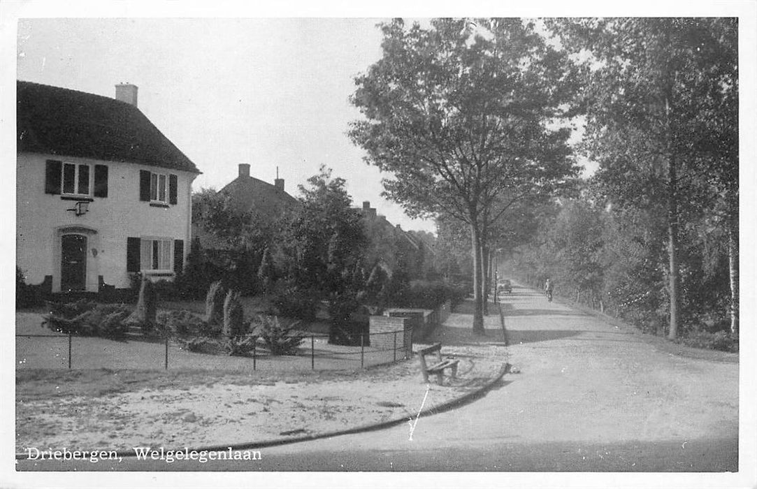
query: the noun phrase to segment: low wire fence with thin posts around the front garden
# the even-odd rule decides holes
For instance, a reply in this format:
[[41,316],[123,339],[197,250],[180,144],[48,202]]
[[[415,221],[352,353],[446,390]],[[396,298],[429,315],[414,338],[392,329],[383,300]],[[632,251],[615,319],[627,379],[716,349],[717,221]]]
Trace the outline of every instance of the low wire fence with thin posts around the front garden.
[[360,344],[329,343],[329,335],[308,334],[296,355],[273,355],[257,342],[245,356],[189,351],[176,338],[107,339],[45,334],[16,335],[17,369],[223,369],[341,370],[394,363],[412,356],[411,331],[360,335]]

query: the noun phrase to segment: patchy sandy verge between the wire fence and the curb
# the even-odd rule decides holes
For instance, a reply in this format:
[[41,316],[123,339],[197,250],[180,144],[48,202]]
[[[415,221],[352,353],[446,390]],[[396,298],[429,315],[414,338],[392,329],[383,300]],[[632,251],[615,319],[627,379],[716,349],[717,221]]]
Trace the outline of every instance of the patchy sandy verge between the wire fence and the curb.
[[17,453],[225,446],[412,419],[494,378],[503,352],[445,347],[457,378],[428,394],[415,360],[336,372],[19,369]]

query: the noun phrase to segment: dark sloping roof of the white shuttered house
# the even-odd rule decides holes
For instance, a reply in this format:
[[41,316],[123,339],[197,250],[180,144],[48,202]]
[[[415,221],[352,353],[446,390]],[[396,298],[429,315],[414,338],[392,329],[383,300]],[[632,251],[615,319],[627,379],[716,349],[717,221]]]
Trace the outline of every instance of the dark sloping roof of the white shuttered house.
[[16,89],[17,151],[201,173],[131,104],[20,80]]

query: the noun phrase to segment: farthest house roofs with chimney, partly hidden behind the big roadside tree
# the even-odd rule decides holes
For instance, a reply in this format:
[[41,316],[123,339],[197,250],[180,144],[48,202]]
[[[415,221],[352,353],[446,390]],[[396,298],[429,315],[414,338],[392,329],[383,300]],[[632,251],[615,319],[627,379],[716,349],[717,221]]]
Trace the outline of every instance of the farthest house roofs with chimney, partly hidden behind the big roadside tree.
[[433,250],[424,241],[404,231],[399,224],[392,225],[385,216],[376,213],[369,201],[363,202],[360,212],[371,242],[366,253],[367,263],[380,263],[389,273],[401,269],[411,279],[426,275]]

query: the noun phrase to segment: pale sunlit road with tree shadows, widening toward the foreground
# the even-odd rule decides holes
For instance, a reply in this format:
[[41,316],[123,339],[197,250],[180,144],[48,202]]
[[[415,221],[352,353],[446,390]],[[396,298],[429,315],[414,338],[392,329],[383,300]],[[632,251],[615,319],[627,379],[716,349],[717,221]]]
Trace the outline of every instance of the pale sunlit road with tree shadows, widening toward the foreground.
[[[247,463],[120,470],[723,472],[738,469],[738,364],[678,357],[526,288],[503,299],[509,363],[485,397],[409,425],[260,450]],[[491,347],[499,317],[486,318]],[[448,331],[469,324],[456,314]],[[450,338],[454,335],[450,334]],[[489,340],[487,340],[489,341]],[[106,463],[79,469],[109,469]],[[71,463],[19,469],[74,469]]]

